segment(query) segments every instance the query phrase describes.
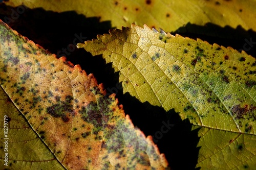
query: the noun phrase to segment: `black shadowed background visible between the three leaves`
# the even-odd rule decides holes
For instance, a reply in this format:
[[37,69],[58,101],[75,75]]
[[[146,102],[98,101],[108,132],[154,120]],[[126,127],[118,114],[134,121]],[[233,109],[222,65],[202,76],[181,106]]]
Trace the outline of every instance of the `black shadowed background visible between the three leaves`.
[[[18,7],[17,7],[18,8]],[[86,40],[96,38],[97,34],[108,33],[113,29],[111,21],[100,22],[100,18],[78,15],[74,11],[56,13],[45,11],[41,8],[28,9],[18,14],[16,19],[12,19],[13,10],[17,8],[0,4],[0,19],[6,21],[9,26],[23,36],[28,37],[35,43],[38,43],[51,53],[57,54],[73,44],[76,38],[75,34],[87,37]],[[8,20],[9,18],[9,20]],[[245,31],[238,27],[221,28],[219,26],[207,23],[206,26],[196,26],[187,23],[186,26],[178,29],[172,34],[180,34],[190,38],[200,38],[208,41],[210,44],[218,43],[223,46],[231,46],[234,49],[243,49],[247,41],[245,39],[256,41],[256,33],[249,30]],[[256,45],[256,44],[254,44]],[[247,54],[256,56],[254,46],[246,51]],[[65,53],[61,53],[65,54]],[[112,65],[106,64],[102,56],[93,57],[83,49],[75,49],[69,55],[66,55],[73,64],[79,64],[87,74],[93,73],[98,83],[103,83],[105,89],[115,88],[118,83],[118,72],[114,72]],[[106,91],[110,93],[111,91]],[[166,112],[163,108],[152,106],[149,103],[141,103],[129,93],[123,94],[122,89],[116,92],[116,98],[119,104],[123,105],[125,114],[129,114],[135,126],[141,129],[144,134],[154,136],[160,131],[163,122],[174,124],[163,137],[158,140],[157,145],[160,153],[164,153],[172,169],[195,169],[198,159],[199,141],[198,130],[191,131],[191,124],[187,119],[181,120],[178,113],[174,110]],[[198,168],[199,169],[199,168]]]

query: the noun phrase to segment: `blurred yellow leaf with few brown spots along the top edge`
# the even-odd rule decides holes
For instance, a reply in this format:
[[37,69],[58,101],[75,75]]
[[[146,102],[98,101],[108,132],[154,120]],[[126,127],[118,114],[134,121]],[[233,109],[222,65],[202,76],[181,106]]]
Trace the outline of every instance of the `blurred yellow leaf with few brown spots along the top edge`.
[[176,31],[188,22],[204,26],[211,22],[221,27],[230,26],[256,30],[255,5],[253,0],[247,1],[20,1],[5,2],[7,5],[25,5],[29,8],[42,7],[56,12],[76,11],[87,17],[100,17],[100,21],[111,20],[114,28],[129,27],[132,23],[143,26]]

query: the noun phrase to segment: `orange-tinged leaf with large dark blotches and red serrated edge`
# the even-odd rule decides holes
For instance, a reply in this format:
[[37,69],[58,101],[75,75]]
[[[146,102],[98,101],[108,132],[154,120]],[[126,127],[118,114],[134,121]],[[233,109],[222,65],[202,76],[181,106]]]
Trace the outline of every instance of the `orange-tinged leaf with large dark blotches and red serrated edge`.
[[57,59],[2,21],[0,32],[1,126],[7,115],[8,167],[168,168],[152,137],[134,128],[115,95],[104,97],[93,75]]

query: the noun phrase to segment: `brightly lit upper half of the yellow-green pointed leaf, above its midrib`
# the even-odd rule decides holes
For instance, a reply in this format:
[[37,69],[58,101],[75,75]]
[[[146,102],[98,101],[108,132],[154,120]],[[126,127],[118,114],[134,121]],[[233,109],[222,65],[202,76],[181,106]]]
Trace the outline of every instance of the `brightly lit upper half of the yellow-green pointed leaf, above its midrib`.
[[[246,129],[240,127],[250,122],[243,120],[244,124],[238,125],[240,119],[246,112],[249,112],[250,119],[255,119],[255,59],[251,56],[217,44],[212,46],[201,40],[195,41],[178,35],[174,37],[163,31],[152,31],[146,26],[143,29],[132,25],[132,29],[114,30],[110,33],[111,35],[98,36],[98,40],[87,41],[86,45],[78,46],[85,47],[93,55],[103,53],[107,62],[113,62],[115,70],[121,72],[119,81],[122,81],[124,92],[130,92],[141,102],[148,101],[152,105],[162,106],[166,111],[175,108],[183,119],[189,118],[189,114],[190,122],[194,125],[245,133]],[[122,38],[126,40],[122,42]],[[129,43],[134,43],[135,47],[131,48]],[[112,50],[114,44],[120,44],[122,47],[117,46]],[[136,58],[132,57],[134,54],[137,55]],[[236,63],[231,65],[232,62]],[[123,67],[123,63],[127,68]],[[243,71],[245,76],[238,75],[240,71]],[[237,87],[237,84],[240,87]],[[150,93],[144,95],[143,89]],[[237,89],[237,92],[234,94],[228,89]],[[175,103],[179,96],[181,105]],[[230,98],[234,103],[230,103]],[[202,105],[206,106],[201,108]],[[244,108],[241,108],[243,106]],[[208,118],[202,117],[207,117],[207,113],[213,112],[218,114],[214,115],[217,118],[211,125],[212,115]],[[212,127],[221,117],[227,121],[234,120],[229,121],[230,129],[228,126]],[[252,127],[255,127],[254,123]],[[254,130],[250,133],[255,134]]]

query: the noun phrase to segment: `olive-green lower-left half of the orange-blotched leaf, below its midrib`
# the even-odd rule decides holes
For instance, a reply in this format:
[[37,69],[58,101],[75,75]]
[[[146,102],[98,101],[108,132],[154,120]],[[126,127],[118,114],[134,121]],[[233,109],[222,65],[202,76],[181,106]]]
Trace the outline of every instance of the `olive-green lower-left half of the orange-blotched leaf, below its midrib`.
[[0,87],[0,106],[1,167],[65,169],[30,127],[2,87]]

